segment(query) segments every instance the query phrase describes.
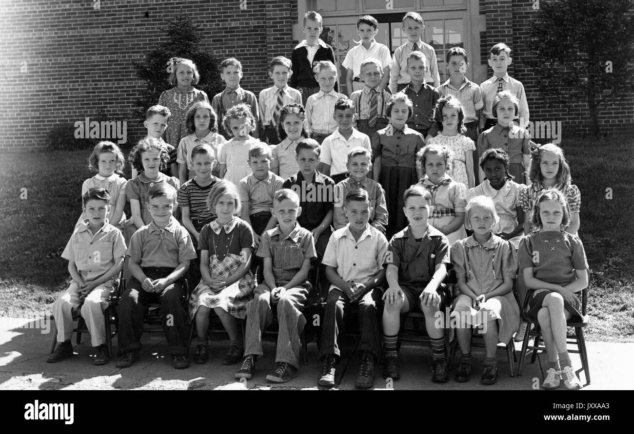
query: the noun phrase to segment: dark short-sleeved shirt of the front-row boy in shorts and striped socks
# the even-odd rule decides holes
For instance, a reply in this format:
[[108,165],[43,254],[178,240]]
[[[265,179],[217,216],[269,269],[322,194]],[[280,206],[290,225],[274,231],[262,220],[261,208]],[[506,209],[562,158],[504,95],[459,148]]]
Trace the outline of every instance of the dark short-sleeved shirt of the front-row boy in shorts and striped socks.
[[428,224],[427,233],[418,243],[411,234],[410,226],[407,226],[390,240],[384,266],[390,264],[398,268],[400,286],[424,290],[434,276],[436,265],[447,264],[448,268],[451,267],[447,237]]

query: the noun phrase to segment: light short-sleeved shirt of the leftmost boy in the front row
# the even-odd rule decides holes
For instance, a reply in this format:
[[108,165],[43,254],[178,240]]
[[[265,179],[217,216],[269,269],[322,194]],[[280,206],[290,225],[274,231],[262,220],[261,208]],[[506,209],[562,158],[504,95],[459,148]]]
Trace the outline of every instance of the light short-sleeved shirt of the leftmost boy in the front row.
[[93,234],[86,219],[75,228],[61,257],[75,262],[82,278],[93,281],[112,268],[115,258],[124,257],[126,250],[126,241],[119,229],[106,220]]

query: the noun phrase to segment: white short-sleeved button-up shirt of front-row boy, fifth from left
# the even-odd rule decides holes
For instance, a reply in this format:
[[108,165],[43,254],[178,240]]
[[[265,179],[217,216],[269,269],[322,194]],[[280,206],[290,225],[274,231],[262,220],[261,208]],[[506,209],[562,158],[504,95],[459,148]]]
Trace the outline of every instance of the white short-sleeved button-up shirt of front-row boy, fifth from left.
[[[355,241],[350,225],[337,229],[328,240],[321,264],[337,269],[337,274],[346,282],[366,283],[379,271],[387,255],[387,239],[375,227],[366,226]],[[330,290],[336,288],[330,285]]]

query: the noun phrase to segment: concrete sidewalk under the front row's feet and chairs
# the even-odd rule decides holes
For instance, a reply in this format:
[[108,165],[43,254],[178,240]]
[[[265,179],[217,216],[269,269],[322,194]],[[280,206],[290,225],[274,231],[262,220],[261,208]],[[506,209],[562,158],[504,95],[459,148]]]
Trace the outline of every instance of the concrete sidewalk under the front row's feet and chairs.
[[[297,378],[275,385],[266,380],[266,375],[275,369],[275,336],[264,343],[264,357],[256,364],[254,378],[245,382],[235,381],[233,374],[240,365],[220,364],[228,350],[226,336],[214,336],[210,341],[210,361],[207,364],[191,364],[188,369],[176,370],[171,366],[167,344],[162,333],[145,333],[143,350],[132,367],[121,369],[115,361],[103,366],[94,366],[94,348],[89,336],[82,336],[75,355],[55,364],[46,363],[53,320],[0,318],[0,390],[210,390],[210,389],[317,389],[316,382],[321,373],[321,363],[316,344],[308,344],[308,364],[299,367]],[[73,338],[75,339],[75,338]],[[73,340],[74,341],[74,340]],[[117,350],[117,340],[113,350]],[[634,356],[634,343],[587,342],[592,384],[583,390],[633,390],[634,373],[623,369],[624,361]],[[519,357],[519,344],[516,344]],[[193,351],[193,350],[192,350]],[[430,380],[430,350],[420,343],[403,343],[399,355],[401,380],[389,385],[381,376],[382,366],[375,367],[375,388],[396,390],[531,390],[534,378],[540,378],[537,363],[530,364],[527,357],[522,378],[509,376],[506,352],[498,350],[498,383],[493,386],[480,384],[484,350],[474,348],[475,357],[472,378],[469,383],[456,383],[455,371],[451,380],[437,385]],[[575,369],[581,367],[579,356],[571,355]],[[545,362],[545,356],[541,356]],[[342,342],[342,361],[337,366],[336,388],[353,389],[358,373],[358,355],[353,339]],[[581,381],[585,382],[583,373]],[[560,390],[565,390],[562,385]]]

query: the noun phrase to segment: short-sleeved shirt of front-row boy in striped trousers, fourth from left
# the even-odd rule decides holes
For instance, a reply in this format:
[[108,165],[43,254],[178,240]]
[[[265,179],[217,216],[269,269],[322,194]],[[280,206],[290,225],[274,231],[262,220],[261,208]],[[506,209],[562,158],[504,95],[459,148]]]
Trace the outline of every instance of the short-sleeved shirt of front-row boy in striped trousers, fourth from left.
[[257,256],[273,260],[276,281],[290,281],[299,272],[305,259],[317,256],[313,234],[297,222],[286,238],[282,238],[279,226],[269,229],[262,235]]

